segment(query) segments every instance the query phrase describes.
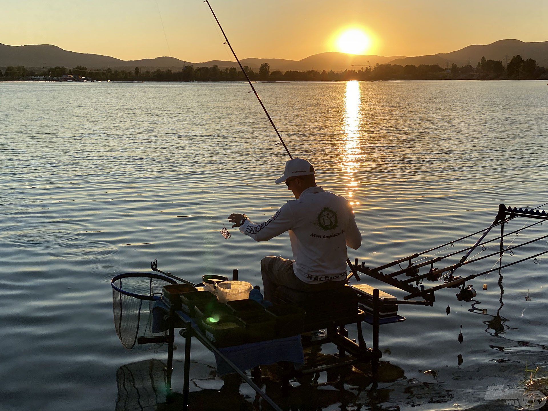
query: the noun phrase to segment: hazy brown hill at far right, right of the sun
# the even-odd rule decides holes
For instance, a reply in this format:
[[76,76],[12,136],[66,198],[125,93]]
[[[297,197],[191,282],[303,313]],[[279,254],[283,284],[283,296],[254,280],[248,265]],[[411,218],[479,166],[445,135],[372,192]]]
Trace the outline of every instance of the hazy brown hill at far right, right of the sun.
[[482,57],[488,60],[500,60],[504,62],[505,56],[508,60],[520,54],[523,59],[534,59],[539,66],[548,67],[548,42],[525,43],[520,40],[507,39],[499,40],[491,44],[469,45],[463,49],[450,53],[438,53],[425,56],[406,57],[390,61],[390,64],[439,64],[442,67],[455,63],[457,66],[464,66],[470,59],[470,64],[476,66]]

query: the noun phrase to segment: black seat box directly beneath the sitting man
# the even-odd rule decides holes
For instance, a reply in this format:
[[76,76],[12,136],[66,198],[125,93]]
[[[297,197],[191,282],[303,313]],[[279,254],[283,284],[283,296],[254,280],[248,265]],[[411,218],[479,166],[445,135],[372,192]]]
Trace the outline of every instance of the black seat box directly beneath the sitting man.
[[306,312],[304,332],[326,328],[324,324],[332,322],[352,323],[352,317],[358,315],[358,297],[349,286],[316,292],[281,286],[276,288],[272,302],[289,302],[301,307]]

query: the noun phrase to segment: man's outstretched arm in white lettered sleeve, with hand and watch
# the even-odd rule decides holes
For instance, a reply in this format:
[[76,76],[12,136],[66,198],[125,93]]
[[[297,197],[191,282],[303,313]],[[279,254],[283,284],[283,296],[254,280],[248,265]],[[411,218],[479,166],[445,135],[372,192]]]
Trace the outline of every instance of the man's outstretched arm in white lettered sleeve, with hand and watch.
[[[239,225],[240,221],[236,221],[239,216],[243,218],[241,225]],[[231,214],[229,221],[236,222],[235,226],[239,226],[242,233],[255,241],[268,241],[293,228],[293,213],[289,204],[284,204],[269,220],[261,224],[251,222],[245,214]]]

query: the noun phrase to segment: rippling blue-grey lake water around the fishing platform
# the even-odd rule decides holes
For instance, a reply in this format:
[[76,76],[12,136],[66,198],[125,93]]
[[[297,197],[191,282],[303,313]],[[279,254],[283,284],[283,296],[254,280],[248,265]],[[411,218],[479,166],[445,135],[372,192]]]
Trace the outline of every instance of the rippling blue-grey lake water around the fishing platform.
[[[354,203],[363,243],[349,255],[367,266],[481,230],[499,203],[548,201],[544,81],[256,88],[292,155],[309,159],[319,185]],[[117,405],[118,369],[150,376],[157,363],[149,360],[165,362],[166,353],[119,343],[110,278],[149,271],[156,258],[191,281],[237,268],[240,279],[262,285],[263,256],[290,258],[287,233],[264,243],[229,224],[230,239],[219,233],[228,214],[264,221],[291,195],[273,183],[287,155],[248,91],[244,83],[0,83],[0,409],[152,409],[144,397],[140,406]],[[516,221],[506,232],[536,220]],[[546,234],[548,223],[538,224],[506,244]],[[504,263],[546,246],[519,248]],[[293,399],[267,388],[292,409],[516,409],[485,397],[489,386],[517,386],[526,367],[548,362],[548,260],[538,263],[503,269],[504,294],[494,272],[471,281],[476,302],[446,289],[433,307],[400,306],[407,321],[381,327],[382,361],[395,376],[378,390],[357,370],[338,383],[326,373],[309,385],[294,381]],[[460,275],[494,264],[496,257],[470,264]],[[179,336],[176,345],[180,392]],[[213,355],[195,343],[192,359],[194,409],[226,407],[216,402],[228,397],[216,397],[223,381],[214,378]],[[123,367],[130,363],[138,364]],[[253,408],[247,385],[236,396],[241,409]]]

